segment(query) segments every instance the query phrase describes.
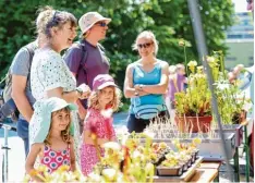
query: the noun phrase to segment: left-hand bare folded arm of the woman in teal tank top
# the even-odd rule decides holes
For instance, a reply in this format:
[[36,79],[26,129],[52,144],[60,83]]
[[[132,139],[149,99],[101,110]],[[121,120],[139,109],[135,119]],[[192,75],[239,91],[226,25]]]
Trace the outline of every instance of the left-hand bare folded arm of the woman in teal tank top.
[[125,98],[148,95],[148,93],[146,93],[146,91],[137,90],[134,88],[133,70],[134,70],[133,64],[130,64],[125,71],[125,81],[124,81],[124,96],[125,96]]

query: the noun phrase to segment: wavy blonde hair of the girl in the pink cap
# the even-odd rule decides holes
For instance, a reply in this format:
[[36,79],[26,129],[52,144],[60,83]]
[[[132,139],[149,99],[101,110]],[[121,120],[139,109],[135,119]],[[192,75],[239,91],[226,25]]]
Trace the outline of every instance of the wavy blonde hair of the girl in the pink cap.
[[[109,105],[111,105],[111,108],[112,108],[113,111],[117,111],[121,107],[121,90],[118,87],[114,87],[114,86],[108,86],[108,87],[112,87],[113,90],[114,90],[113,99]],[[92,91],[92,94],[90,94],[90,96],[88,98],[88,107],[89,108],[100,110],[99,94],[100,94],[101,90],[102,89]]]

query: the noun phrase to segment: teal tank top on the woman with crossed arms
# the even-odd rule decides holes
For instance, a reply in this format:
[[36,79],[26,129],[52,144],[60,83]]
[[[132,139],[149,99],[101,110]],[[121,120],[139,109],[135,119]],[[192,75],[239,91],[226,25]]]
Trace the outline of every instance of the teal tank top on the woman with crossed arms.
[[[134,85],[156,85],[161,80],[161,66],[160,63],[156,63],[155,68],[150,72],[145,72],[138,64],[134,65],[133,70],[133,84]],[[130,113],[134,113],[134,105],[163,105],[165,98],[161,94],[149,94],[141,97],[131,98]],[[166,108],[163,108],[166,110]]]

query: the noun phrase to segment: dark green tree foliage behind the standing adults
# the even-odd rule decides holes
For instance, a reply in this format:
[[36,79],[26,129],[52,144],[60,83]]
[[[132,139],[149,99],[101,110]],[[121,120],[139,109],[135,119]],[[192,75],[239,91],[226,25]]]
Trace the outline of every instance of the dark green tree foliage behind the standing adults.
[[[233,24],[231,0],[199,0],[203,26],[209,52],[226,51],[224,30]],[[125,68],[137,59],[132,51],[138,33],[150,29],[159,41],[158,58],[170,64],[184,62],[180,38],[192,45],[189,59],[197,60],[195,38],[186,0],[0,0],[0,77],[3,77],[16,51],[35,35],[38,7],[52,5],[66,10],[77,19],[97,11],[111,17],[108,37],[102,42],[111,60],[111,74],[123,85]]]

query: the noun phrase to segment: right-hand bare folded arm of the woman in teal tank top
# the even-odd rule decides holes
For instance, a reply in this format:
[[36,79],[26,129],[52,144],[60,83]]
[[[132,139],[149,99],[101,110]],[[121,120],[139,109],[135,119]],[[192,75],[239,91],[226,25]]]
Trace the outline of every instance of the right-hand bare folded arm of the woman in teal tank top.
[[134,88],[139,91],[149,94],[166,94],[169,80],[169,65],[167,62],[161,61],[161,80],[157,85],[135,85]]

